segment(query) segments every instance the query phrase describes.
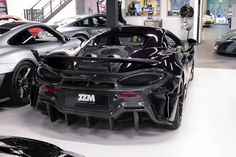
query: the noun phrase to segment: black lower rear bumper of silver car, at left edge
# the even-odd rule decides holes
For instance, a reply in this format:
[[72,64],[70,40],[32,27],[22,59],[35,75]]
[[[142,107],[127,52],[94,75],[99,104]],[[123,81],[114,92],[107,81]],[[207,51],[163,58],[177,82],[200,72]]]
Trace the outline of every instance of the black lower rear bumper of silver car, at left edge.
[[0,74],[0,103],[10,100],[12,74]]

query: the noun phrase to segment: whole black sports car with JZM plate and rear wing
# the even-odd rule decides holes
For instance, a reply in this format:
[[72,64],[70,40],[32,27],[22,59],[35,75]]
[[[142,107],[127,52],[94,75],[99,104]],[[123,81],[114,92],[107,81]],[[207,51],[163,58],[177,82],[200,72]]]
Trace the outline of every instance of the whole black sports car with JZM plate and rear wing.
[[178,128],[189,81],[194,45],[165,29],[119,27],[95,36],[75,57],[44,58],[35,73],[32,105],[52,122],[77,116],[88,127],[107,119],[110,129],[134,119]]

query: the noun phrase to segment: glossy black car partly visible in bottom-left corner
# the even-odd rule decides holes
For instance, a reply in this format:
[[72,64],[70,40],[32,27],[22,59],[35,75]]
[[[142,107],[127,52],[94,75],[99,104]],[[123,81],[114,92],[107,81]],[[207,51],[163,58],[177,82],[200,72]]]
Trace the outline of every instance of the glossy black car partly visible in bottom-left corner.
[[1,137],[1,157],[84,157],[43,141],[22,137]]

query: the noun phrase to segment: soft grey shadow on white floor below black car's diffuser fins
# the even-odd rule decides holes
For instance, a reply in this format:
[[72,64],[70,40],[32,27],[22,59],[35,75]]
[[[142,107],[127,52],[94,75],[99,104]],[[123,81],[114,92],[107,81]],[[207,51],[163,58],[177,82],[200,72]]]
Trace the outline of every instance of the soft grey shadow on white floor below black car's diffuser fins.
[[151,121],[142,122],[138,130],[135,130],[134,123],[131,120],[119,122],[113,130],[110,130],[108,120],[100,120],[88,128],[86,120],[82,118],[68,126],[64,119],[52,123],[47,116],[34,109],[28,110],[24,115],[27,116],[22,115],[22,121],[27,125],[30,124],[28,129],[34,133],[55,139],[93,144],[139,145],[155,143],[171,140],[172,136],[179,132],[178,130],[161,128]]

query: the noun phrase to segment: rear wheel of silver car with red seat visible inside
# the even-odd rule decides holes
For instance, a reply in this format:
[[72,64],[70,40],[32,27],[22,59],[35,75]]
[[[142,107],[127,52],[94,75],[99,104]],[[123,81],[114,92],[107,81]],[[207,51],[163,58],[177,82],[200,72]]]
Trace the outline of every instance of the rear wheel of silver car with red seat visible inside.
[[23,106],[30,103],[34,69],[35,65],[29,61],[23,61],[15,67],[10,87],[12,104]]

